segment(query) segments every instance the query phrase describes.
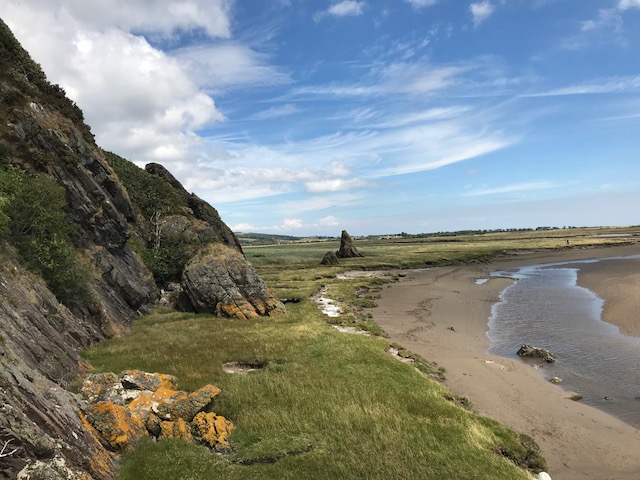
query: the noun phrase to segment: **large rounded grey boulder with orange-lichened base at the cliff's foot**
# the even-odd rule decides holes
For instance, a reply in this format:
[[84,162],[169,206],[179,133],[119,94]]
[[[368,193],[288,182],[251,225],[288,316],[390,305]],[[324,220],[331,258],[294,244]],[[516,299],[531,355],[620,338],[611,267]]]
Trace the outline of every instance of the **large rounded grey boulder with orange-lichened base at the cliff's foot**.
[[198,313],[249,319],[284,311],[242,253],[221,244],[203,247],[187,263],[182,288],[180,305]]

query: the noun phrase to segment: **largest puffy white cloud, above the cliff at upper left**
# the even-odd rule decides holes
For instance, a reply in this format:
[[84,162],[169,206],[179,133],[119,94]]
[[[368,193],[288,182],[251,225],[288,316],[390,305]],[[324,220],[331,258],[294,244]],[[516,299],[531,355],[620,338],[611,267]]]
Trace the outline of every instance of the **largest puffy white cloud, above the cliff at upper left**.
[[268,56],[237,41],[165,53],[179,32],[227,38],[232,0],[33,0],[3,19],[82,108],[98,143],[138,163],[177,161],[202,147],[197,131],[225,120],[210,91],[283,84]]

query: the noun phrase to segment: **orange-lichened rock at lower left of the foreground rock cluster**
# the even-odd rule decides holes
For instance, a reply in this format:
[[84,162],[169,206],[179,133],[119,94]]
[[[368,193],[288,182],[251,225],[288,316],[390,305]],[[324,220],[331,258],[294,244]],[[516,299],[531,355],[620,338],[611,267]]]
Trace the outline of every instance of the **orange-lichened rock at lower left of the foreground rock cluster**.
[[92,403],[87,408],[89,423],[116,451],[134,447],[146,435],[140,418],[121,405],[109,402]]

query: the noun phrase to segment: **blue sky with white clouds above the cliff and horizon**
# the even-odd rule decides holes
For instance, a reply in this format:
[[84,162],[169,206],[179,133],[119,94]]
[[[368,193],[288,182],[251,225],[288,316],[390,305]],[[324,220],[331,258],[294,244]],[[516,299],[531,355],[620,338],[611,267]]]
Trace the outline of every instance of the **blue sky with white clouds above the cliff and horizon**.
[[0,0],[237,232],[640,224],[640,0]]

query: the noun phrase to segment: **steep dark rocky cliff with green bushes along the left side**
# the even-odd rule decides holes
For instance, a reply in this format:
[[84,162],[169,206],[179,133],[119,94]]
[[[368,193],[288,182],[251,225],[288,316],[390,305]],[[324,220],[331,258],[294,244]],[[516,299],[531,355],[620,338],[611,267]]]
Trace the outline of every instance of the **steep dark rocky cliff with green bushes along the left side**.
[[[186,245],[182,265],[212,243],[242,257],[213,207],[148,169],[182,198],[178,211],[145,215],[80,109],[0,20],[0,479],[112,477],[116,455],[70,392],[89,369],[78,350],[126,334],[160,287],[180,281],[181,269],[165,278],[158,267],[169,237]],[[56,192],[60,211],[45,199]],[[261,314],[281,307],[263,303]]]

